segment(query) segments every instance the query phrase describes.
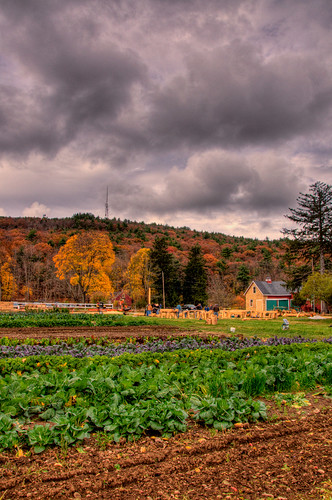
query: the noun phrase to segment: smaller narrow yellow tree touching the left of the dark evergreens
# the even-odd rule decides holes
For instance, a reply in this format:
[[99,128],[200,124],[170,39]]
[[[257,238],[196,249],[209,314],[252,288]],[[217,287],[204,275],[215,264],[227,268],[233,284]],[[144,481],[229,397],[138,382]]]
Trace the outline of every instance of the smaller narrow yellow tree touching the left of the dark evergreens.
[[127,288],[136,304],[146,303],[148,289],[152,286],[149,248],[141,248],[130,259],[126,271]]

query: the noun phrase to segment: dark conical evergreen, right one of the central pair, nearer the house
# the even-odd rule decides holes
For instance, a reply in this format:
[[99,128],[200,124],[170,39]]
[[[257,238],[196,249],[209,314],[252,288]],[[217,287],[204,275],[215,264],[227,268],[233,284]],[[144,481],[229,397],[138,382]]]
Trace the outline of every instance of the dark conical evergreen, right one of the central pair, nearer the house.
[[199,245],[191,248],[189,261],[185,268],[183,300],[188,304],[207,302],[207,274],[202,249]]

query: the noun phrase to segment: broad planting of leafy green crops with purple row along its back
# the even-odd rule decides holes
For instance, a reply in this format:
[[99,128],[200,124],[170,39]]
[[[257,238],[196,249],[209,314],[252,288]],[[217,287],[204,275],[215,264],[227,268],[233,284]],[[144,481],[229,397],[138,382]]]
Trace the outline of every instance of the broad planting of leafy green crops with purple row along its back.
[[[274,340],[276,345],[271,339],[265,345],[259,339],[227,339],[227,346],[216,347],[217,339],[117,345],[106,339],[99,344],[3,339],[1,347],[16,355],[0,359],[0,449],[33,446],[41,452],[93,433],[114,441],[169,436],[193,421],[222,430],[265,419],[260,396],[317,384],[331,393],[331,339]],[[56,352],[38,351],[42,348]],[[114,353],[116,348],[123,351]]]

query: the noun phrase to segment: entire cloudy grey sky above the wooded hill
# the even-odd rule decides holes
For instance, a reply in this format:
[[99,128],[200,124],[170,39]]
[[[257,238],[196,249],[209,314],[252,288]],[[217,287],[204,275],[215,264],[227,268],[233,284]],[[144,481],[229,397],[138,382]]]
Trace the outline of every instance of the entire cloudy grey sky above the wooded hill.
[[331,0],[1,0],[0,215],[281,237],[332,183]]

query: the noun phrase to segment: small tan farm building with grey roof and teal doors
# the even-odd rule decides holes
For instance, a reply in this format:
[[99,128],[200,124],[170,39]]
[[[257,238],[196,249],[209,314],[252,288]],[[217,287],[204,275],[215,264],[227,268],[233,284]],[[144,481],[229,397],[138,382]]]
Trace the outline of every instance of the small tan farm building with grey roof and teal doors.
[[290,309],[292,294],[284,281],[252,281],[244,292],[247,311],[273,311]]

